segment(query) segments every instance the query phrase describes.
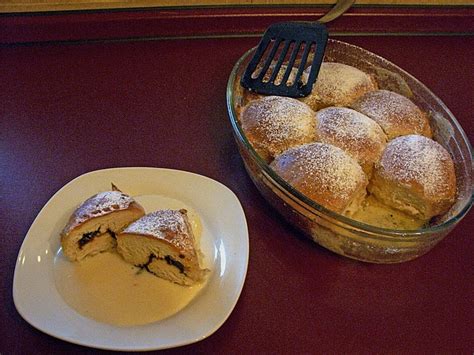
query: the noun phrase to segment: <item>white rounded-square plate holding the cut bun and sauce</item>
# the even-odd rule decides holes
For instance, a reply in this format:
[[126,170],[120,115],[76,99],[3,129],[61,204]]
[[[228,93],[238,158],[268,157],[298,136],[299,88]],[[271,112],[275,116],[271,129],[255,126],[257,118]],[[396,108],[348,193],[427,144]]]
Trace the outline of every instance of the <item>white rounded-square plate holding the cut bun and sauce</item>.
[[[211,274],[201,293],[170,318],[142,326],[115,327],[69,307],[55,287],[59,233],[72,211],[113,182],[131,196],[157,194],[191,206],[204,226],[201,249]],[[248,231],[239,200],[210,178],[171,169],[113,168],[77,177],[61,188],[31,225],[18,254],[13,300],[32,326],[84,346],[123,351],[166,349],[200,341],[229,317],[242,291],[249,256]]]

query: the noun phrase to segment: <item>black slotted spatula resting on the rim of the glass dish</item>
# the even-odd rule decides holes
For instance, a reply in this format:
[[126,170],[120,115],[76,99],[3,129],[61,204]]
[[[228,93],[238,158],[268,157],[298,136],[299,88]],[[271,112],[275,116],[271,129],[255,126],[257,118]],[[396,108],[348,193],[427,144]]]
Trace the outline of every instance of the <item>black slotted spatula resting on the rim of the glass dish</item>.
[[[241,79],[244,88],[265,95],[304,97],[311,92],[324,57],[328,31],[325,23],[341,16],[354,0],[338,0],[317,22],[280,22],[271,25]],[[312,60],[307,81],[303,72]],[[282,65],[286,69],[280,73]]]

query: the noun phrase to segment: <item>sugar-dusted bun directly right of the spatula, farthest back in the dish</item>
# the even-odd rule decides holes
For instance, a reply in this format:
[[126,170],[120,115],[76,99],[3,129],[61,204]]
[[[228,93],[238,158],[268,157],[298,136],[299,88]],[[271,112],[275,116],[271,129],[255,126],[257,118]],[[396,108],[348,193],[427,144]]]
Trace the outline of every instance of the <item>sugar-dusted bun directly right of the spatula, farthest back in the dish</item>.
[[[306,68],[309,74],[311,67]],[[376,90],[375,80],[367,73],[342,63],[323,62],[311,93],[300,100],[314,111],[328,106],[349,106],[365,93]]]

